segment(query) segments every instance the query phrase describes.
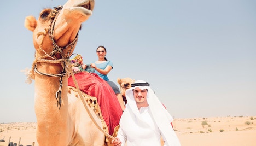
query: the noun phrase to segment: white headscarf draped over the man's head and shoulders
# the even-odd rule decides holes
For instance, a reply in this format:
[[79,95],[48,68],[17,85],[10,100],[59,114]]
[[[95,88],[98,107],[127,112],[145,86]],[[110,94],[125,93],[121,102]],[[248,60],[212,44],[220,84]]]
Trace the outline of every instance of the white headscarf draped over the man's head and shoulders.
[[[142,84],[139,84],[142,83]],[[165,139],[165,145],[173,145],[179,146],[179,139],[174,132],[171,122],[173,121],[172,116],[167,112],[165,107],[159,101],[158,97],[156,97],[154,91],[147,85],[146,81],[138,80],[135,81],[136,86],[131,87],[130,89],[126,90],[126,98],[127,98],[127,105],[124,110],[123,115],[120,119],[120,126],[127,129],[131,125],[136,125],[142,128],[150,128],[147,122],[144,122],[141,118],[139,113],[138,107],[136,105],[136,101],[133,96],[133,89],[139,87],[139,89],[147,89],[147,101],[149,104],[149,112],[153,116],[153,120],[155,121],[156,125],[158,126],[161,136]],[[130,127],[132,129],[132,127]],[[139,137],[136,137],[139,138]],[[126,140],[126,139],[125,139]]]

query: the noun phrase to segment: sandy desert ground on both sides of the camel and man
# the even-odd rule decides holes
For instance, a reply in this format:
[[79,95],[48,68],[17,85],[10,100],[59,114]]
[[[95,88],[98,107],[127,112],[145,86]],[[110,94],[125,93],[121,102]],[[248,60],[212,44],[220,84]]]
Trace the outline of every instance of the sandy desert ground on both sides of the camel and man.
[[[182,146],[256,145],[256,116],[175,119],[173,125]],[[5,142],[0,142],[0,146],[9,142],[38,145],[36,123],[1,123],[1,139]]]

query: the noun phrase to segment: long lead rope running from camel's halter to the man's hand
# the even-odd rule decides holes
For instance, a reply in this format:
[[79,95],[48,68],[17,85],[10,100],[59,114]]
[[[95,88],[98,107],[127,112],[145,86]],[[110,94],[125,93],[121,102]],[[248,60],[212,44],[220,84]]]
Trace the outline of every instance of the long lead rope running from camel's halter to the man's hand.
[[73,81],[74,81],[75,88],[77,89],[78,95],[80,96],[80,99],[82,100],[82,102],[83,102],[83,104],[84,104],[84,107],[85,107],[85,109],[86,109],[86,112],[89,114],[91,120],[94,122],[94,124],[96,125],[97,129],[100,130],[102,133],[104,133],[104,135],[105,135],[106,137],[109,137],[109,138],[111,138],[111,139],[114,140],[115,138],[114,138],[112,135],[109,135],[109,133],[107,133],[106,131],[104,131],[104,130],[97,124],[97,122],[95,121],[94,117],[92,117],[92,114],[91,114],[91,112],[89,111],[89,108],[88,108],[87,104],[86,104],[85,101],[84,101],[84,98],[83,98],[84,96],[82,95],[82,92],[81,92],[81,90],[79,89],[77,80],[76,80],[75,77],[74,77],[73,71],[71,72],[71,76],[72,76],[72,79],[73,79]]

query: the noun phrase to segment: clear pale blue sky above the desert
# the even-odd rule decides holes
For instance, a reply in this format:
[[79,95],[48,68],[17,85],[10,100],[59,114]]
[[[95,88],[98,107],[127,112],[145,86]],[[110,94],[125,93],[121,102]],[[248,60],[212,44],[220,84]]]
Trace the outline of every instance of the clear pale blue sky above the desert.
[[[25,17],[60,0],[3,1],[1,122],[36,122],[34,82],[22,69],[34,59]],[[96,0],[74,52],[85,63],[104,45],[110,80],[150,83],[174,118],[256,116],[256,1]]]

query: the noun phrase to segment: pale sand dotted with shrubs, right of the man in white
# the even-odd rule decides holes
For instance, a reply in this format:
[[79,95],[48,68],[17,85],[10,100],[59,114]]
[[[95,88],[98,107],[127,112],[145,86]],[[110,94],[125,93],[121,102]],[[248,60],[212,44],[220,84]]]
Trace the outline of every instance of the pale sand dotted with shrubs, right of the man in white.
[[174,129],[183,146],[256,145],[255,116],[175,119]]

